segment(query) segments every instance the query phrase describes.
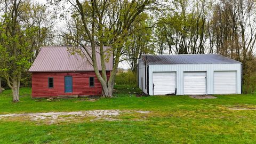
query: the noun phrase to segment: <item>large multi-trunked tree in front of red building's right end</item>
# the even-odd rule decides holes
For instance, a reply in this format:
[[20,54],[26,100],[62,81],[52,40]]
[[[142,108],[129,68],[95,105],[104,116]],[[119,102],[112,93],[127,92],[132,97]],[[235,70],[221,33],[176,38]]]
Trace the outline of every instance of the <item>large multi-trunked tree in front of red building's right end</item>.
[[[85,33],[82,35],[83,41],[79,42],[79,45],[90,55],[95,74],[102,85],[103,96],[113,97],[115,76],[127,36],[132,33],[135,19],[142,12],[151,9],[150,6],[155,3],[155,0],[68,1],[75,8],[73,17],[80,18],[83,23]],[[89,42],[91,50],[85,46],[86,42]],[[114,56],[114,66],[109,79],[107,79],[105,66],[109,54],[103,50],[103,46],[106,45],[111,46],[108,53],[112,53]],[[101,63],[97,63],[96,60],[97,46],[99,46]],[[98,65],[101,65],[101,71],[99,71]]]

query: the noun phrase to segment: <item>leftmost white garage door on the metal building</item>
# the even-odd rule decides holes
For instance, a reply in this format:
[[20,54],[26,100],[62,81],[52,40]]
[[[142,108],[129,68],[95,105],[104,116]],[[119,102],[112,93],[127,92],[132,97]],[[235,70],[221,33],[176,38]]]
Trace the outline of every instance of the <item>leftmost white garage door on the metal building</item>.
[[175,93],[176,73],[153,73],[154,95]]

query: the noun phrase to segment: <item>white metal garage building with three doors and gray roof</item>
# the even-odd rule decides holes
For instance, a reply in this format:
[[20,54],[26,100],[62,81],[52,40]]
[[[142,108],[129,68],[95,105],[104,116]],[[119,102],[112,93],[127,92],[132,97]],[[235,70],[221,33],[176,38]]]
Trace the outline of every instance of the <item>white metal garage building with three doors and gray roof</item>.
[[220,54],[141,55],[137,68],[149,95],[242,93],[242,63]]

